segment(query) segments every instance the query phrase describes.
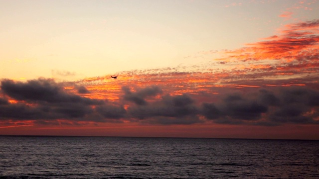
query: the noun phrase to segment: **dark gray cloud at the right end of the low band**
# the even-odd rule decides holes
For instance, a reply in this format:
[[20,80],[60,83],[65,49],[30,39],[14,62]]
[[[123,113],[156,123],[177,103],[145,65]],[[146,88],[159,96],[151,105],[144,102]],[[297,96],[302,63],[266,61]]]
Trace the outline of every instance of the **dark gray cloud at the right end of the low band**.
[[220,101],[202,103],[201,114],[217,123],[279,125],[314,124],[319,92],[304,87],[259,89],[246,94],[226,94]]

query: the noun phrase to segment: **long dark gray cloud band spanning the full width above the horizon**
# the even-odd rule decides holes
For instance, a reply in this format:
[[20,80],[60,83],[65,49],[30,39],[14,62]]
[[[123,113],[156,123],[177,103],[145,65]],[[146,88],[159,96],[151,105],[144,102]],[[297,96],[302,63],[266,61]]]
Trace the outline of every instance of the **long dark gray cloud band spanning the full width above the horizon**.
[[[50,79],[25,83],[2,80],[0,120],[61,124],[56,119],[66,119],[66,125],[76,125],[80,121],[121,122],[123,119],[162,125],[207,120],[265,126],[319,124],[319,91],[307,87],[238,89],[205,98],[202,94],[162,94],[158,86],[122,89],[124,100],[119,100],[119,104],[68,93],[62,84]],[[124,108],[125,105],[128,108]]]

